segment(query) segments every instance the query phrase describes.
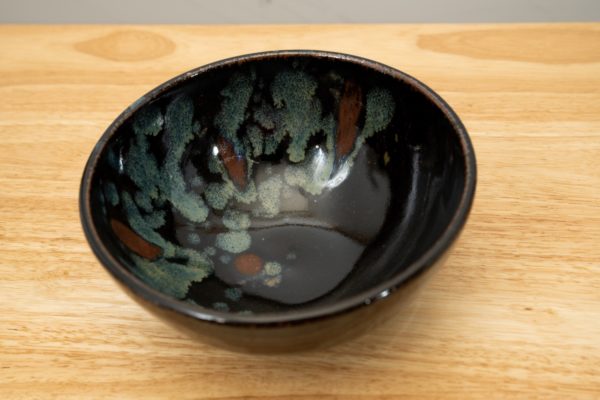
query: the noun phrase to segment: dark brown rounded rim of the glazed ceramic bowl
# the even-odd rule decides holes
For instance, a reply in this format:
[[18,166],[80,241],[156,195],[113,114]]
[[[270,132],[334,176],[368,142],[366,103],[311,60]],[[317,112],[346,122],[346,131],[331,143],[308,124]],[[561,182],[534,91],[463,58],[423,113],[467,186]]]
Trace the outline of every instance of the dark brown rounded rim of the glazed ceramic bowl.
[[[90,204],[91,182],[100,154],[104,150],[106,144],[117,132],[118,128],[143,105],[160,97],[170,89],[186,81],[194,79],[196,76],[202,73],[236,64],[287,57],[313,57],[332,61],[343,61],[351,64],[357,64],[367,69],[389,75],[393,79],[400,80],[404,84],[407,84],[413,89],[417,90],[444,113],[458,136],[464,154],[463,161],[465,163],[464,189],[461,193],[458,207],[456,208],[450,223],[447,225],[442,234],[435,240],[433,245],[430,246],[427,251],[425,251],[418,259],[409,264],[400,273],[356,295],[339,300],[332,304],[307,308],[305,310],[299,309],[251,315],[234,314],[216,311],[200,305],[194,305],[177,300],[145,284],[132,272],[128,271],[125,266],[123,266],[110,254],[100,240],[99,234],[93,223]],[[466,128],[448,103],[446,103],[446,101],[444,101],[436,92],[434,92],[421,81],[406,74],[405,72],[385,64],[351,54],[323,50],[275,50],[230,57],[194,68],[160,84],[127,107],[104,131],[89,156],[89,159],[85,165],[83,176],[81,178],[79,192],[79,212],[86,239],[96,258],[100,261],[100,264],[102,264],[103,267],[120,284],[124,285],[130,292],[146,302],[154,304],[162,309],[174,311],[183,316],[208,323],[254,327],[275,327],[306,323],[323,318],[334,317],[350,312],[359,307],[368,306],[375,302],[384,300],[387,301],[387,299],[393,297],[393,292],[434,265],[458,238],[463,226],[466,223],[471,206],[473,204],[476,180],[477,171],[475,153]]]

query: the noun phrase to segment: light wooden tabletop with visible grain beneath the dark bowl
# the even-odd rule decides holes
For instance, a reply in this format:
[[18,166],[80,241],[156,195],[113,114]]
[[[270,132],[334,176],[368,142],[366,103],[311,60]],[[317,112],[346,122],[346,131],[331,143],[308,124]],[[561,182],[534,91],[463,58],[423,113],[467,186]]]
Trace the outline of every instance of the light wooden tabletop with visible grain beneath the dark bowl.
[[[133,303],[81,231],[107,125],[195,66],[353,53],[465,122],[470,220],[414,305],[330,350],[230,353]],[[0,398],[600,398],[600,24],[0,27]]]

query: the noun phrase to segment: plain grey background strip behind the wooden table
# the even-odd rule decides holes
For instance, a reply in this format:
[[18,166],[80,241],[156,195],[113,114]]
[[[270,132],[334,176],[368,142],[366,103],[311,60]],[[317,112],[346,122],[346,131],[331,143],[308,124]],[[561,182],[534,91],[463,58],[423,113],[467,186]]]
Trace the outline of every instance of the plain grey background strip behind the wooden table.
[[0,23],[599,20],[600,0],[0,0]]

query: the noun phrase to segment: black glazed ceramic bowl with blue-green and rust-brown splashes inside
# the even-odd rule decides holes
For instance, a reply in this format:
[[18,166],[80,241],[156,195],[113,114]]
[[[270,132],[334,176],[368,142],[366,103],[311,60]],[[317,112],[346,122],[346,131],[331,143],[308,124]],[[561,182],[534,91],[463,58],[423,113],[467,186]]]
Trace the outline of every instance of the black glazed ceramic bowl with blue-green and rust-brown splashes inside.
[[235,349],[400,312],[462,229],[475,157],[416,79],[321,51],[236,57],[125,110],[86,165],[92,250],[149,311]]

